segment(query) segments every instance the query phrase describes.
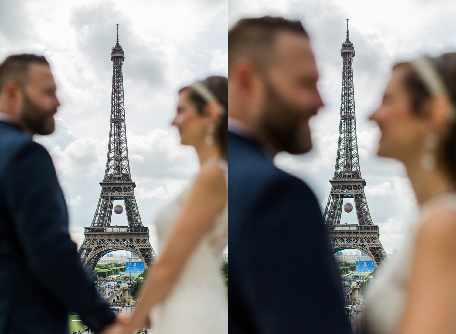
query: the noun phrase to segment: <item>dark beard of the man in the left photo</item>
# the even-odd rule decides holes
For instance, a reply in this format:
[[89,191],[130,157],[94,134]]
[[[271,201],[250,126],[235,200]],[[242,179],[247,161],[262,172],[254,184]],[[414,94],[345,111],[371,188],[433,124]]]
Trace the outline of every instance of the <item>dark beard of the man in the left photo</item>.
[[32,101],[32,99],[23,90],[24,108],[20,116],[23,124],[32,134],[49,135],[54,132],[54,118],[50,115],[57,112],[57,108],[46,109]]

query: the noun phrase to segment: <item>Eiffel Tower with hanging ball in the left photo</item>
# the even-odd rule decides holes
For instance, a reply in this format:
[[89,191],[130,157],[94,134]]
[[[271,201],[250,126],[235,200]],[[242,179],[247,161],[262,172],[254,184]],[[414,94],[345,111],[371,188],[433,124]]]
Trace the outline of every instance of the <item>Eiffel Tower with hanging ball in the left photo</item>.
[[[115,250],[130,251],[144,262],[145,267],[149,267],[155,258],[155,252],[149,242],[149,228],[143,226],[136,205],[133,193],[136,184],[130,175],[122,78],[124,59],[124,49],[119,45],[117,25],[117,42],[111,52],[113,83],[106,170],[104,179],[100,182],[101,194],[92,224],[85,228],[84,242],[78,251],[83,266],[90,272],[93,272],[102,256]],[[128,225],[111,226],[114,200],[124,201]]]

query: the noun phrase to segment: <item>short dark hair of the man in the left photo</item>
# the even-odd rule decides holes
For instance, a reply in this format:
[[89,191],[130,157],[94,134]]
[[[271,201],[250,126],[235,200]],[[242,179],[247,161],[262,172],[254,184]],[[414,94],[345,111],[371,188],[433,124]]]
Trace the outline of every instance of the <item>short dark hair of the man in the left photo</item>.
[[20,87],[24,87],[29,66],[38,63],[49,66],[44,56],[34,54],[19,54],[6,57],[0,64],[0,91],[7,81],[13,81]]

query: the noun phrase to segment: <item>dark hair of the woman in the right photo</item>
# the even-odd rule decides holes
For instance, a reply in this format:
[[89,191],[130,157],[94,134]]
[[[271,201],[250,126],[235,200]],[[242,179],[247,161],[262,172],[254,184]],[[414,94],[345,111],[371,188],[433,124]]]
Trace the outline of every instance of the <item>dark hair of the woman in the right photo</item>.
[[[429,59],[445,85],[451,104],[456,106],[456,52],[444,53],[439,57]],[[431,97],[430,90],[410,63],[399,63],[394,66],[394,68],[399,67],[409,69],[403,78],[403,84],[409,93],[412,110],[417,116],[426,117],[428,110],[426,110],[425,104]],[[456,181],[456,121],[454,117],[450,120],[449,133],[440,145],[437,159],[449,173],[451,180]]]

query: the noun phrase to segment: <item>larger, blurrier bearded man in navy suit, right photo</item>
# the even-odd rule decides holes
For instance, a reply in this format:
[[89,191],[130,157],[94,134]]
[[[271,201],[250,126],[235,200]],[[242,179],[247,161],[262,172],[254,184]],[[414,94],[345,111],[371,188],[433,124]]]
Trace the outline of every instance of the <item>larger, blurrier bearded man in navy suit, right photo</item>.
[[309,37],[299,21],[243,19],[228,50],[229,331],[351,333],[316,198],[272,162],[312,147],[323,103]]

